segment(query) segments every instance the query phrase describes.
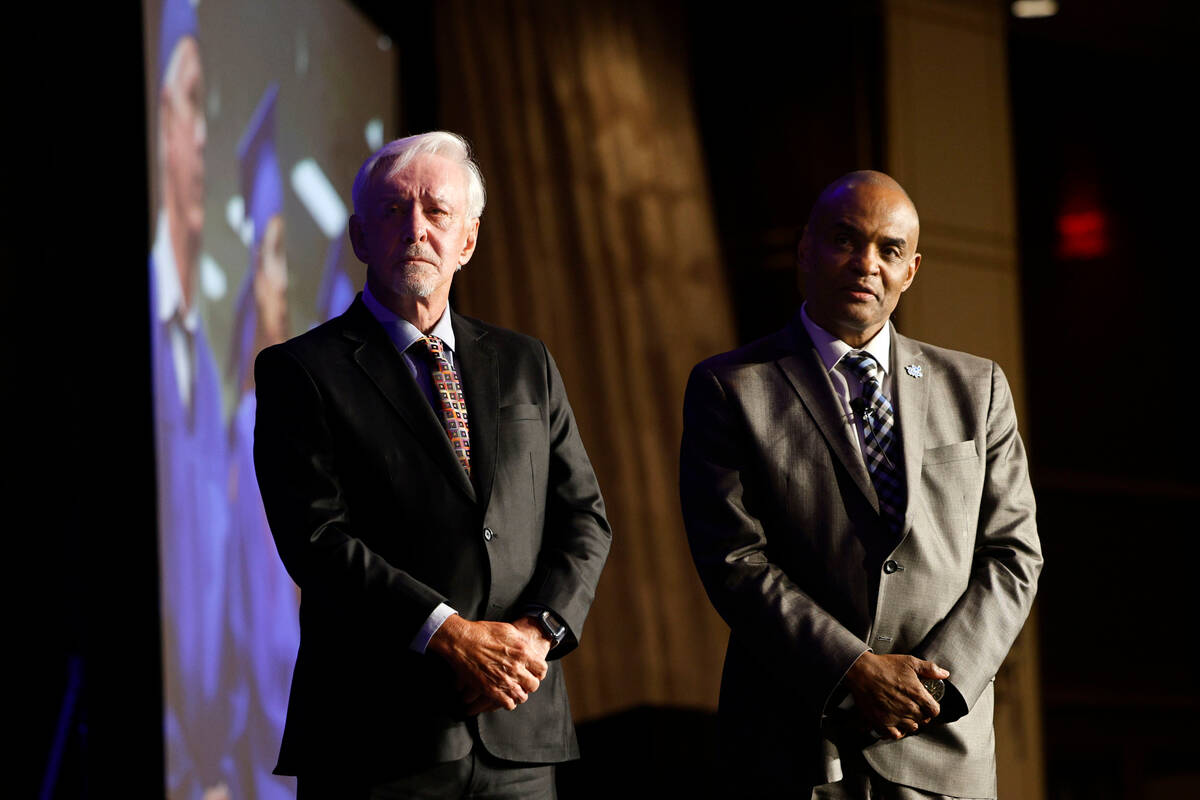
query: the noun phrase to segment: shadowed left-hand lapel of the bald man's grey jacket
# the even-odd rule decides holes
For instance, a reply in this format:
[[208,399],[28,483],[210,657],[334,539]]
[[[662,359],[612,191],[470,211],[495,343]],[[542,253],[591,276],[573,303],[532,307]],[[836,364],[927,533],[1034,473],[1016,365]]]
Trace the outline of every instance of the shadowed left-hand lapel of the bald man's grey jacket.
[[841,461],[846,471],[854,479],[859,491],[878,513],[880,499],[875,494],[875,485],[871,483],[871,476],[866,473],[862,453],[857,451],[854,443],[846,435],[845,413],[834,396],[833,384],[824,362],[821,361],[820,354],[812,347],[812,339],[809,338],[799,317],[779,336],[788,345],[787,349],[792,350],[791,355],[779,360],[779,368],[784,371],[792,389],[800,396],[800,402],[804,403],[817,427],[821,428],[829,450]]

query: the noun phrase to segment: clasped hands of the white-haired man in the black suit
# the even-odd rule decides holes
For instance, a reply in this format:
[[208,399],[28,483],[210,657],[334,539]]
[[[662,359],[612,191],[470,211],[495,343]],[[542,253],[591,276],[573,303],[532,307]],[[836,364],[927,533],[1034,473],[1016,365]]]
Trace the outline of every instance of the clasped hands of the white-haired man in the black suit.
[[538,691],[548,669],[550,639],[524,616],[514,622],[473,622],[454,614],[428,649],[450,664],[468,716],[511,711]]

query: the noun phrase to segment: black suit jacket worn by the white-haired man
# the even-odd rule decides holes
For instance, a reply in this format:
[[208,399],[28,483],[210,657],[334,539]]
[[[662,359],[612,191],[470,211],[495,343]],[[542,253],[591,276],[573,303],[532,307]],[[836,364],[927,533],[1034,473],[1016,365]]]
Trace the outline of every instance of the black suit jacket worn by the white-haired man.
[[[545,345],[451,319],[469,479],[361,297],[256,362],[259,486],[301,589],[281,774],[386,778],[466,756],[468,726],[499,758],[577,757],[557,660],[608,553],[604,501]],[[440,602],[474,620],[539,604],[566,624],[528,702],[462,718],[449,668],[409,650]]]

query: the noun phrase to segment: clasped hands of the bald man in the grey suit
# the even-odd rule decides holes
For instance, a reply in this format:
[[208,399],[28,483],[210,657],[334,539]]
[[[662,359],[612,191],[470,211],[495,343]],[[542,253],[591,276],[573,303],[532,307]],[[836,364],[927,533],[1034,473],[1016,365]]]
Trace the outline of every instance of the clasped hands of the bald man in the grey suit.
[[950,673],[916,656],[864,652],[846,673],[845,684],[869,728],[888,739],[917,733],[942,712],[922,679]]

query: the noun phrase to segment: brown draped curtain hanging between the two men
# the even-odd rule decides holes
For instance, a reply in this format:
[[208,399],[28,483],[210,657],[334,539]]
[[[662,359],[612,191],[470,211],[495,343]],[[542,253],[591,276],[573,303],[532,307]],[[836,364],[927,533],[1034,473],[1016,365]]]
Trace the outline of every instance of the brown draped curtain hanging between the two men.
[[672,4],[439,2],[439,119],[488,181],[456,308],[544,339],[614,531],[577,718],[715,708],[726,638],[678,501],[683,390],[734,344]]

